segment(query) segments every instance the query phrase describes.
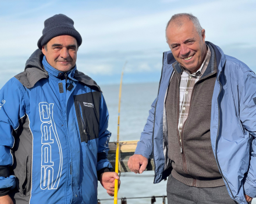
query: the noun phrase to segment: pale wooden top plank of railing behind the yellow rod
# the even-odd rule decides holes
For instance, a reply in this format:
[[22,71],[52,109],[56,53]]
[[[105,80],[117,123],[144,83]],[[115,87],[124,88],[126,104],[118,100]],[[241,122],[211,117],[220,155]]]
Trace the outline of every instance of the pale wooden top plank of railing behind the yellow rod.
[[[120,141],[120,152],[134,152],[137,147],[138,140],[134,141]],[[108,144],[109,153],[116,153],[116,143],[111,142]]]

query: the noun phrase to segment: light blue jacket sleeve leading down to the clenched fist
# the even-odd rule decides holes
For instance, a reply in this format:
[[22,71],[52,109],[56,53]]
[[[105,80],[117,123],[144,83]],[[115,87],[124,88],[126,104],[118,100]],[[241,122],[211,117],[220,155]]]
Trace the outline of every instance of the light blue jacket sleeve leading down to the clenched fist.
[[140,141],[137,143],[137,148],[134,154],[143,155],[145,158],[149,159],[152,153],[152,134],[154,128],[154,114],[155,105],[157,99],[151,105],[150,115],[148,116],[147,123],[144,126],[144,130],[141,133]]

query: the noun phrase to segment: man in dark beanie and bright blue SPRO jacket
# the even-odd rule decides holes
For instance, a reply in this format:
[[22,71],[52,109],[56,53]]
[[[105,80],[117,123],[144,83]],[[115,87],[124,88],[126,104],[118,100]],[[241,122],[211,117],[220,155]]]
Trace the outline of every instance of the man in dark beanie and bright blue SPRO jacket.
[[77,71],[73,20],[56,14],[44,25],[25,71],[0,90],[0,203],[97,203],[98,180],[111,196],[119,180],[106,103]]

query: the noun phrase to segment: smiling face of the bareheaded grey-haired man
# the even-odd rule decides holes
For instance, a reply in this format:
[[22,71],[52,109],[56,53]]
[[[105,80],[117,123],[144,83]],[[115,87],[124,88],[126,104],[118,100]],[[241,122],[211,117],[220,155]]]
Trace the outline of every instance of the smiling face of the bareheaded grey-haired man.
[[181,27],[171,22],[166,30],[166,37],[175,60],[191,73],[196,72],[207,53],[205,30],[202,30],[200,36],[190,20],[184,20]]

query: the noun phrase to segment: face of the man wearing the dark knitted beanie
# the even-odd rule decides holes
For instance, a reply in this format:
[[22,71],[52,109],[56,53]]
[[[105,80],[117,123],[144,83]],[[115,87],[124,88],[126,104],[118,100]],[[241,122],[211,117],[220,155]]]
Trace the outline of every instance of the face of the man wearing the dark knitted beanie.
[[52,38],[47,46],[42,46],[48,63],[59,71],[69,71],[76,64],[77,42],[70,35],[60,35]]

